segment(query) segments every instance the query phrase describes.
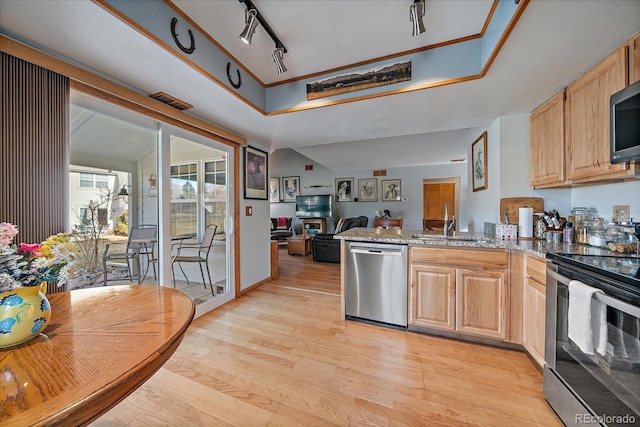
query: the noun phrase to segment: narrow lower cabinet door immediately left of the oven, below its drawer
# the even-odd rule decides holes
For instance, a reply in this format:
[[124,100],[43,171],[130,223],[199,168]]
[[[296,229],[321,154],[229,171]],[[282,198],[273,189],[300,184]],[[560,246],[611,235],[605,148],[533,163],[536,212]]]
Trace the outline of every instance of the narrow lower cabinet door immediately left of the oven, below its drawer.
[[544,364],[545,287],[527,278],[522,295],[522,345],[540,367]]

